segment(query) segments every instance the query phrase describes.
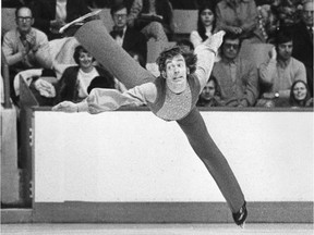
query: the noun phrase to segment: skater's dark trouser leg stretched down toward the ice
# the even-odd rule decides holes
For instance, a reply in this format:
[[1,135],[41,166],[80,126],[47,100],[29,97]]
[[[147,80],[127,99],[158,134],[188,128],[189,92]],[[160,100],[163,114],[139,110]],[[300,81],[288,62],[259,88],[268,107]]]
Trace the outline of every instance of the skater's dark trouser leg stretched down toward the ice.
[[231,211],[238,212],[244,203],[244,196],[227,160],[209,136],[198,110],[194,108],[178,123],[192,148],[216,181]]

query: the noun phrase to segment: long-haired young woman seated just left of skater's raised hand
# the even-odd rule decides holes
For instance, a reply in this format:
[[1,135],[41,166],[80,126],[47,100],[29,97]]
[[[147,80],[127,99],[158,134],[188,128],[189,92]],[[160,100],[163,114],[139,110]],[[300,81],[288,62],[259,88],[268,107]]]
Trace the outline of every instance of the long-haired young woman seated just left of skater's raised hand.
[[192,30],[190,40],[194,48],[212,36],[216,26],[215,5],[207,3],[198,9],[197,30]]

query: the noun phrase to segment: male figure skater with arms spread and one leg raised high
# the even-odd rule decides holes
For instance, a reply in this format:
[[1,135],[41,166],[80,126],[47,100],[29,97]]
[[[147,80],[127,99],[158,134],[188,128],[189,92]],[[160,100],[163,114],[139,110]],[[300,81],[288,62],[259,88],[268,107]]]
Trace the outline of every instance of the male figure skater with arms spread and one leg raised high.
[[[93,35],[93,37],[90,37]],[[140,66],[108,35],[100,21],[84,24],[76,39],[129,90],[94,88],[80,103],[63,101],[53,111],[99,113],[122,106],[146,104],[155,115],[176,121],[192,148],[214,177],[232,212],[235,224],[243,226],[247,217],[246,202],[226,158],[208,134],[195,107],[213,70],[225,32],[219,32],[195,48],[194,53],[173,47],[160,53],[159,77]]]

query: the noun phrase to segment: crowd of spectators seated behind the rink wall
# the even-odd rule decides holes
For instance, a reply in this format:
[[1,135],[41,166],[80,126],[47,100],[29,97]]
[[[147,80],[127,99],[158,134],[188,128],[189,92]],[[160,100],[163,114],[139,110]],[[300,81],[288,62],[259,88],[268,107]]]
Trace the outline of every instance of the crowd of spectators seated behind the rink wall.
[[[180,2],[181,7],[178,7]],[[205,40],[210,40],[215,32],[222,29],[227,33],[212,76],[200,95],[201,107],[313,107],[312,0],[180,2],[2,1],[2,8],[16,8],[16,27],[1,38],[2,52],[10,66],[13,101],[19,106],[19,94],[13,89],[14,77],[31,69],[40,69],[40,73],[33,74],[36,78],[29,86],[37,96],[51,98],[51,103],[61,100],[78,102],[93,87],[125,90],[123,84],[106,71],[106,64],[97,63],[77,45],[71,54],[74,63],[65,64],[61,75],[57,75],[60,71],[51,52],[51,41],[61,42],[64,37],[73,37],[60,34],[60,28],[94,9],[110,8],[113,27],[109,33],[112,39],[143,67],[147,67],[149,39],[158,44],[173,41],[173,9],[197,9],[196,28],[188,38],[173,42],[194,50]],[[257,57],[261,52],[259,62],[251,52]],[[43,70],[56,78],[55,83],[49,85],[49,82],[40,79]]]

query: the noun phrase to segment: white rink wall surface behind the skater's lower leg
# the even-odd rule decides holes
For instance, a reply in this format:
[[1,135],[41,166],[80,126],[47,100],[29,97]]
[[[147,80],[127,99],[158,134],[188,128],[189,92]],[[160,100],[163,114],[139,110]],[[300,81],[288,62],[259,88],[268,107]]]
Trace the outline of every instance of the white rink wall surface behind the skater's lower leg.
[[[313,112],[203,111],[247,201],[313,201]],[[225,201],[176,122],[34,112],[35,202]]]

